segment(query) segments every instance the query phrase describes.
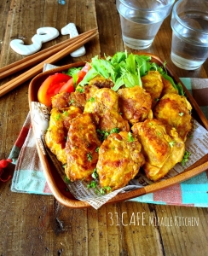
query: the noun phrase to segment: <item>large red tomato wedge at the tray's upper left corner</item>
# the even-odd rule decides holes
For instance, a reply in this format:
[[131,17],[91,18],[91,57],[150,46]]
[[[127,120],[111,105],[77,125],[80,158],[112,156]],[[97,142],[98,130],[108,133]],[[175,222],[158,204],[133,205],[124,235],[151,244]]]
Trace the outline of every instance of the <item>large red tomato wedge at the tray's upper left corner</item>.
[[43,81],[43,84],[41,84],[38,90],[38,102],[43,103],[45,106],[50,106],[51,97],[59,93],[63,84],[66,84],[69,79],[72,79],[72,77],[65,73],[50,75]]

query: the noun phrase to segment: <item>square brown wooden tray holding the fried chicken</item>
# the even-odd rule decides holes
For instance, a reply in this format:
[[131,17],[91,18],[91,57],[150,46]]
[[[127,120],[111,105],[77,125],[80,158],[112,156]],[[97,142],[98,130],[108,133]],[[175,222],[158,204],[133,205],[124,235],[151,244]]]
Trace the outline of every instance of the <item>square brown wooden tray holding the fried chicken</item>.
[[[142,55],[150,55],[152,57],[153,62],[159,64],[159,66],[163,66],[164,61],[160,60],[158,56],[151,55],[148,53],[142,53]],[[47,72],[38,74],[34,79],[32,79],[29,85],[29,106],[31,109],[32,102],[38,102],[38,89],[40,85],[43,83],[49,75],[54,73],[61,73],[63,71],[67,71],[70,67],[83,67],[85,64],[84,61],[72,63],[66,66],[57,67],[55,69],[51,69]],[[168,67],[165,66],[167,72],[175,80],[176,84],[181,83],[182,81],[176,76],[176,73]],[[208,120],[205,118],[204,113],[199,108],[197,102],[195,102],[193,96],[188,92],[187,88],[184,84],[182,84],[183,90],[188,96],[188,101],[192,104],[193,107],[193,116],[201,125],[208,130]],[[43,154],[43,150],[40,148],[39,143],[37,142],[38,147],[38,154],[43,165],[43,172],[46,177],[47,183],[49,184],[49,189],[51,190],[52,194],[55,196],[56,200],[59,201],[65,207],[72,207],[72,208],[83,208],[83,207],[90,207],[90,204],[85,201],[79,201],[78,199],[74,198],[74,196],[69,192],[66,191],[66,183],[62,180],[60,174],[57,172],[55,165],[53,164],[52,160],[50,159],[48,154]],[[112,200],[107,201],[107,203],[115,203],[118,201],[126,201],[131,198],[146,195],[148,193],[152,193],[159,189],[165,189],[173,184],[181,183],[189,179],[190,177],[194,177],[201,172],[205,172],[208,169],[208,154],[202,157],[200,160],[194,163],[194,165],[189,166],[185,171],[176,175],[175,177],[170,177],[166,180],[160,181],[158,183],[153,183],[147,185],[140,189],[131,190],[125,193],[121,193],[113,197]]]

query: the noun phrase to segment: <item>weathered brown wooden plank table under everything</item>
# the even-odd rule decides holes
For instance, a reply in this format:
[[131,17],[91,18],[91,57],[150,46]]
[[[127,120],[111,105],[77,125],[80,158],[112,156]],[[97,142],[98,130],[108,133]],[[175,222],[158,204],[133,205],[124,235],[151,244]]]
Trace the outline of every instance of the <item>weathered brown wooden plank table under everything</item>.
[[[115,0],[66,0],[64,5],[58,0],[1,0],[0,16],[0,67],[22,58],[9,47],[13,38],[24,38],[25,44],[32,44],[31,38],[39,27],[53,26],[61,32],[69,22],[76,24],[78,32],[97,26],[99,37],[85,45],[86,55],[74,59],[68,56],[57,65],[124,50]],[[66,38],[59,36],[43,44],[42,49]],[[179,77],[208,77],[208,61],[196,71],[175,67],[170,61],[170,43],[168,17],[147,51],[167,61]],[[3,79],[1,84],[16,75]],[[28,83],[0,98],[0,159],[8,158],[29,111]],[[0,255],[207,255],[207,208],[122,202],[98,211],[69,209],[50,195],[13,193],[10,185],[11,181],[0,183]],[[142,214],[145,218],[199,218],[199,225],[130,224],[132,213],[137,212],[141,218]]]

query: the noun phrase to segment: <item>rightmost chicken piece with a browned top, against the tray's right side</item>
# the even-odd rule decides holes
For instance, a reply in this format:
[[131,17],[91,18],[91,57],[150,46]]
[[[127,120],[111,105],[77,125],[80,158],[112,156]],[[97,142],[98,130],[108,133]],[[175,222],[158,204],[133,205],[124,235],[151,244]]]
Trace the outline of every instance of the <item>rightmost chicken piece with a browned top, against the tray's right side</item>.
[[179,137],[186,141],[191,130],[192,106],[185,96],[168,93],[163,96],[153,110],[153,115],[165,125],[175,127]]

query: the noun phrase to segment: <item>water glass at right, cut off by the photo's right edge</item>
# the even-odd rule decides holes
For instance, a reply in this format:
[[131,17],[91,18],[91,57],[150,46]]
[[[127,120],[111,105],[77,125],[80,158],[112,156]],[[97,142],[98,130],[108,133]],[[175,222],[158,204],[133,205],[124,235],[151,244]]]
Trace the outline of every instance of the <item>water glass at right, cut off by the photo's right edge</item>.
[[171,27],[173,63],[186,70],[199,68],[208,57],[208,1],[176,2]]

